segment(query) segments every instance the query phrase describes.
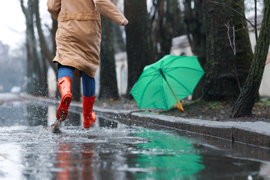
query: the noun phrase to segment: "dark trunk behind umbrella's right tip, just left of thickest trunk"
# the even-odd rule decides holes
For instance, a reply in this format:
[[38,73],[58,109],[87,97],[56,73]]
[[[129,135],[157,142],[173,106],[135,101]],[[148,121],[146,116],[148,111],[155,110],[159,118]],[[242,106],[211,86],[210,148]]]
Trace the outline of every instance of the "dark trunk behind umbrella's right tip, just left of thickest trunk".
[[[185,1],[185,24],[188,38],[193,55],[198,57],[201,67],[206,69],[206,29],[204,26],[203,1],[195,0],[194,8],[191,8],[191,0]],[[204,86],[205,75],[201,78],[195,88],[192,99],[195,100],[201,96]]]

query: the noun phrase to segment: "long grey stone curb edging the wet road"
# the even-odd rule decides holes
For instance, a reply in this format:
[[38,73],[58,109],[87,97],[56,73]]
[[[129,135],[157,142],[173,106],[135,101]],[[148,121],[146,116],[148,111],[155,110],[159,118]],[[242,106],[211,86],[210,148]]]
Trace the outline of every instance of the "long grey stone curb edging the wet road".
[[[35,100],[36,102],[46,102],[48,104],[59,105],[60,100],[39,98],[21,94],[21,98]],[[71,102],[70,108],[78,109],[82,112],[82,104]],[[159,125],[174,129],[182,129],[188,132],[195,132],[204,136],[213,136],[226,139],[228,141],[258,145],[270,148],[270,123],[259,122],[219,122],[201,119],[186,119],[174,116],[165,116],[147,111],[132,111],[121,109],[104,109],[93,107],[96,114],[117,120],[120,123],[151,127]]]

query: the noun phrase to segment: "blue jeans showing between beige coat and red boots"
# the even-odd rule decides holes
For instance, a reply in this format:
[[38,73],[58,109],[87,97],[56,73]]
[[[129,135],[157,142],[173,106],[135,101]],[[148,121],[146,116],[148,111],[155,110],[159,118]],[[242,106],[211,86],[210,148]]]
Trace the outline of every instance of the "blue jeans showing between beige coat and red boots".
[[[72,66],[64,66],[62,64],[59,64],[58,66],[58,80],[60,78],[63,78],[65,76],[68,76],[69,78],[73,77],[73,72],[75,70]],[[95,78],[91,78],[87,73],[84,73],[82,71],[82,93],[85,97],[93,97],[95,96],[96,91],[96,81]]]

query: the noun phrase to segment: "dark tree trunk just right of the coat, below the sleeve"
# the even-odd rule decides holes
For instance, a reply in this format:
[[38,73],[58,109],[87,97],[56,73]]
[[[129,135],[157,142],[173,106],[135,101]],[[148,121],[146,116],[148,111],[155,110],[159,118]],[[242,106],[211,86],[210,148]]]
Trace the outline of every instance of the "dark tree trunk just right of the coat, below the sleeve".
[[100,47],[100,99],[118,99],[116,62],[114,59],[113,21],[101,16],[102,42]]

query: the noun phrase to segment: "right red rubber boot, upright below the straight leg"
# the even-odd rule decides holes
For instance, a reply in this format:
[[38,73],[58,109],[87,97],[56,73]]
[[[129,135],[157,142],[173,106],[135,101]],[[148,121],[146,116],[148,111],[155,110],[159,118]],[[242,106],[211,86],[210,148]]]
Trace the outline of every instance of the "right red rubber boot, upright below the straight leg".
[[96,114],[93,112],[93,102],[96,95],[93,97],[82,96],[82,116],[84,116],[84,128],[89,128],[96,122]]

